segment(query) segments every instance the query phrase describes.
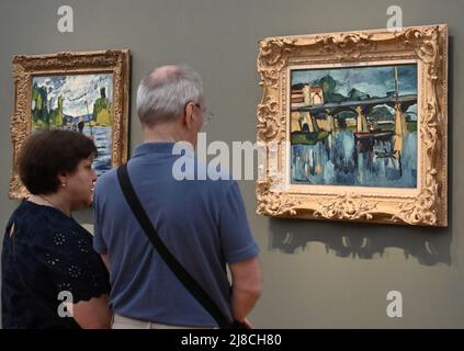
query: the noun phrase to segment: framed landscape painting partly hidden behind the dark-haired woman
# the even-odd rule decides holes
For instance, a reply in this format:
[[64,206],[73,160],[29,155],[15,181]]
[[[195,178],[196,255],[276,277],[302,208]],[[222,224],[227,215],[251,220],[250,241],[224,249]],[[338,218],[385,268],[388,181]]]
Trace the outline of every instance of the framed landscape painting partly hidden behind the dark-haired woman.
[[27,191],[18,170],[24,140],[35,131],[80,132],[98,148],[98,176],[127,161],[129,50],[14,56],[10,199]]

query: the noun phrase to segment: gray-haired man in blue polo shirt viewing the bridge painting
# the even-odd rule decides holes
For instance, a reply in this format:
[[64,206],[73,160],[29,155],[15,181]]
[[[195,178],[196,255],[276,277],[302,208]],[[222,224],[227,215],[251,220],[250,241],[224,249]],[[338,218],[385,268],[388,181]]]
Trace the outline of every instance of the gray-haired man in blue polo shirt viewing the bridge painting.
[[[191,68],[165,66],[145,77],[137,93],[145,140],[128,161],[128,176],[167,248],[230,322],[249,325],[262,273],[237,183],[173,177],[181,156],[172,149],[178,141],[196,145],[205,111],[203,84]],[[93,246],[110,270],[113,328],[217,327],[144,234],[116,170],[97,182],[94,216]]]

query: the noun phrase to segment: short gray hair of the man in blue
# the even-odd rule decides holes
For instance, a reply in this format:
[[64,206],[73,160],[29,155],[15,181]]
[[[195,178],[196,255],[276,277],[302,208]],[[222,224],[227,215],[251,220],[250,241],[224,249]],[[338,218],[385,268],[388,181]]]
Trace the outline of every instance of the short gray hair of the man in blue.
[[145,126],[172,121],[189,102],[200,103],[203,83],[189,66],[171,66],[148,73],[138,86],[137,114]]

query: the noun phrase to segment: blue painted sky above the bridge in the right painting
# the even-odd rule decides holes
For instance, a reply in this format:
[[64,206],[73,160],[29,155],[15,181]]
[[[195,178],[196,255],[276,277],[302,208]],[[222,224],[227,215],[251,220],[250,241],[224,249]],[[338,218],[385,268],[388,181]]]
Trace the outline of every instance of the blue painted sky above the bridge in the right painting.
[[[417,94],[417,65],[396,65],[398,67],[398,90],[400,95]],[[336,81],[335,92],[344,97],[355,88],[371,97],[385,97],[395,91],[394,66],[367,66],[336,69],[305,69],[292,71],[292,86],[318,81],[330,75]]]

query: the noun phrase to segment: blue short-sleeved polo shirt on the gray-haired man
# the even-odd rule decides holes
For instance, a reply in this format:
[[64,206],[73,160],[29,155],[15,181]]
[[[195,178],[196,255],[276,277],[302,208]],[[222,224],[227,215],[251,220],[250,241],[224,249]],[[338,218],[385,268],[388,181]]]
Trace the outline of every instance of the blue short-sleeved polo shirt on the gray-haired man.
[[[231,320],[226,263],[258,254],[240,191],[231,180],[176,180],[172,167],[186,156],[173,155],[173,146],[139,145],[128,173],[166,246]],[[110,258],[110,299],[115,313],[168,325],[216,326],[142,230],[115,169],[99,178],[93,206],[93,247]]]

